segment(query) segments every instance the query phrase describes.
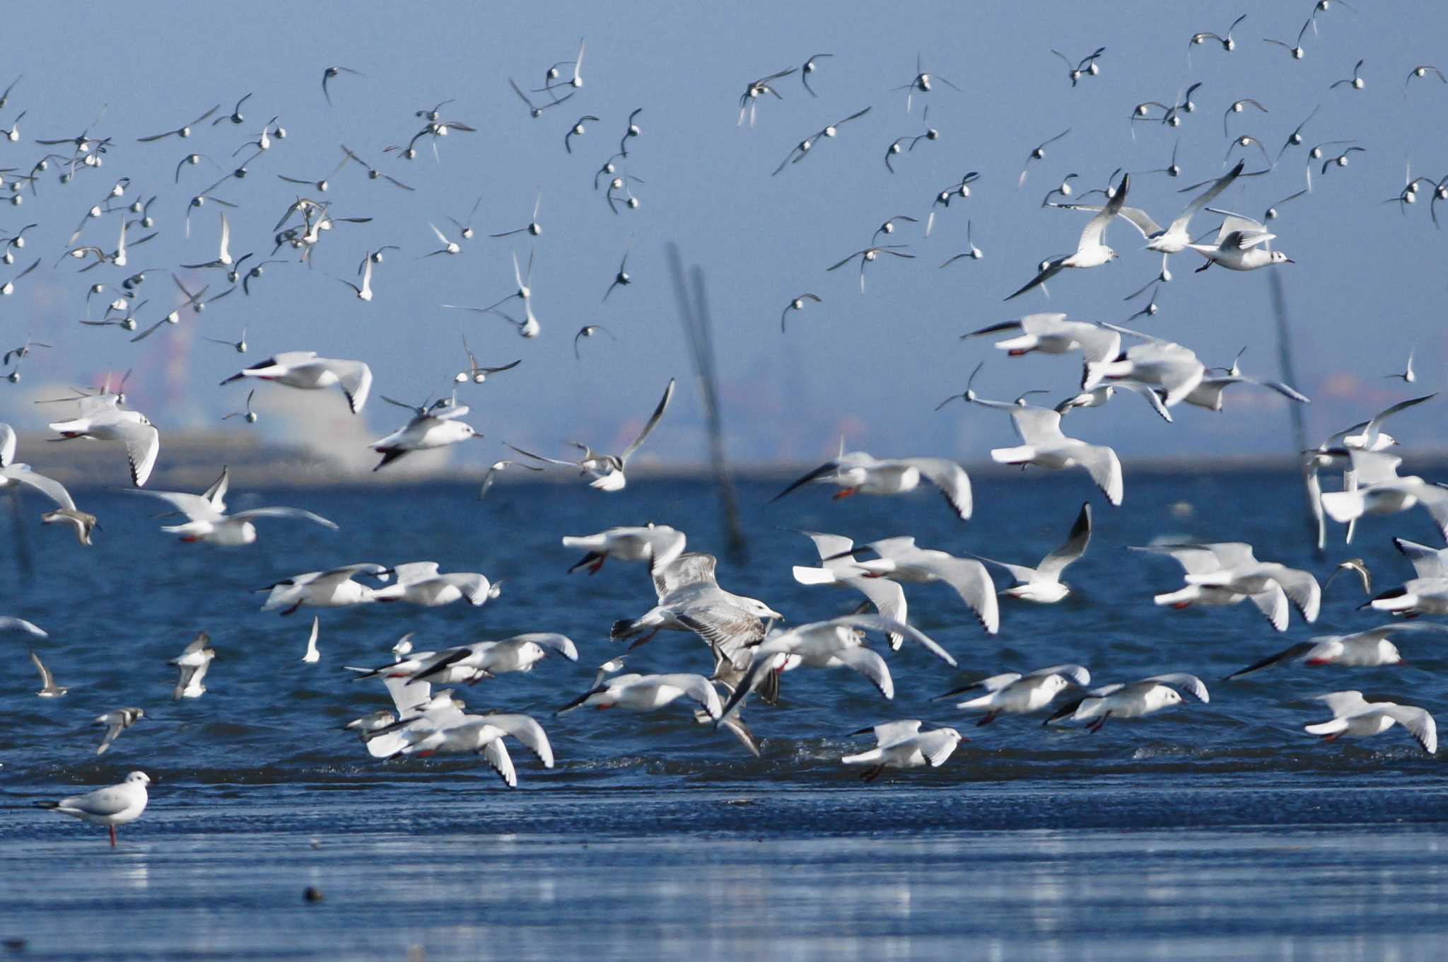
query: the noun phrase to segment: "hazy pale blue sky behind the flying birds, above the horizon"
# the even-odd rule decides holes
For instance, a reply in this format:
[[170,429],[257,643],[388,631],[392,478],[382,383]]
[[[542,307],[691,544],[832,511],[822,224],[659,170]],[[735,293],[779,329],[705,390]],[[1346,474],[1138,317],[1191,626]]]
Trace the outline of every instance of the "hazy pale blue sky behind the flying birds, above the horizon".
[[[239,410],[245,391],[217,382],[239,361],[285,349],[361,358],[374,368],[376,393],[421,400],[449,384],[466,335],[484,364],[521,358],[523,365],[463,390],[473,407],[469,420],[488,443],[460,456],[491,461],[502,453],[502,439],[549,452],[572,438],[621,446],[668,378],[679,377],[689,390],[679,391],[646,451],[663,461],[699,461],[702,414],[663,255],[665,243],[676,240],[686,261],[708,271],[736,459],[808,461],[833,451],[840,430],[851,446],[879,455],[979,459],[988,448],[1011,443],[1005,420],[964,406],[933,410],[964,387],[977,361],[988,361],[979,385],[990,396],[1047,388],[1066,397],[1077,369],[1070,359],[1006,359],[988,342],[961,342],[959,335],[1032,310],[1122,322],[1138,307],[1124,304],[1122,296],[1157,268],[1156,255],[1141,251],[1140,236],[1118,223],[1108,240],[1119,261],[1057,278],[1050,300],[1032,293],[1002,304],[1041,258],[1070,249],[1079,235],[1080,214],[1040,209],[1044,191],[1067,172],[1080,174],[1079,188],[1100,185],[1121,167],[1138,174],[1132,203],[1158,220],[1170,219],[1187,200],[1179,187],[1222,171],[1226,104],[1255,97],[1268,113],[1234,117],[1231,130],[1261,138],[1273,155],[1319,106],[1305,132],[1309,145],[1354,139],[1365,148],[1350,167],[1315,175],[1313,193],[1276,222],[1276,246],[1297,262],[1277,269],[1296,329],[1297,387],[1313,397],[1308,423],[1318,439],[1402,397],[1402,384],[1381,375],[1399,369],[1410,346],[1416,345],[1420,375],[1415,391],[1438,387],[1448,351],[1439,267],[1448,235],[1434,227],[1426,203],[1406,216],[1381,203],[1402,190],[1407,162],[1415,175],[1448,174],[1439,170],[1448,167],[1448,132],[1441,123],[1448,85],[1432,77],[1415,80],[1406,91],[1403,84],[1412,67],[1442,55],[1448,13],[1441,4],[1355,7],[1334,4],[1319,14],[1319,33],[1309,29],[1300,62],[1261,38],[1296,36],[1310,1],[849,9],[442,3],[405,16],[398,16],[403,7],[333,3],[22,7],[7,19],[10,75],[0,83],[25,78],[0,110],[0,126],[9,127],[19,110],[26,116],[19,143],[0,141],[0,167],[28,170],[42,151],[33,138],[71,136],[87,126],[116,143],[101,170],[61,185],[52,168],[39,196],[26,196],[22,207],[0,206],[3,227],[41,223],[16,267],[43,258],[41,269],[0,301],[3,346],[28,336],[56,346],[32,355],[22,384],[0,384],[0,417],[38,430],[49,411],[25,403],[29,398],[104,369],[132,368],[133,406],[161,427],[162,439],[182,427],[223,427],[220,416]],[[1189,62],[1193,32],[1222,32],[1244,10],[1250,16],[1237,28],[1234,52],[1197,46]],[[543,70],[571,59],[579,38],[588,41],[585,87],[571,103],[531,119],[508,90],[508,78],[526,88],[540,85]],[[1096,46],[1106,48],[1100,75],[1072,88],[1051,48],[1079,58]],[[753,129],[736,126],[738,96],[752,78],[798,67],[820,52],[834,57],[820,61],[812,77],[818,97],[804,90],[798,74],[783,78],[778,84],[783,100],[760,103]],[[906,113],[904,91],[892,88],[915,74],[917,54],[927,70],[961,90],[937,84]],[[1367,87],[1329,90],[1334,80],[1351,75],[1360,58],[1367,61]],[[329,64],[363,74],[333,83],[333,107],[320,90]],[[1195,96],[1199,109],[1180,129],[1137,125],[1132,136],[1134,104],[1170,101],[1192,81],[1203,84]],[[253,96],[242,126],[198,127],[187,142],[135,142],[213,103],[224,104],[224,113],[248,91]],[[384,154],[420,126],[414,110],[449,97],[456,100],[443,113],[478,133],[442,141],[440,162],[429,151],[411,162]],[[922,130],[924,103],[941,136],[898,158],[891,175],[885,149],[895,138]],[[866,106],[870,113],[843,127],[835,141],[770,177],[804,136]],[[592,178],[617,149],[634,107],[643,107],[643,133],[631,142],[626,170],[641,181],[633,184],[641,206],[615,216]],[[585,113],[601,120],[588,125],[569,155],[563,133]],[[339,226],[319,245],[310,269],[272,265],[252,297],[237,291],[200,319],[187,316],[138,345],[113,327],[77,325],[85,316],[87,284],[129,272],[106,267],[77,275],[71,261],[52,267],[84,210],[119,177],[130,177],[127,198],[159,196],[152,212],[161,229],[156,240],[133,249],[133,267],[169,268],[214,256],[214,209],[193,217],[190,239],[182,236],[182,212],[191,193],[219,174],[204,165],[188,168],[175,185],[172,171],[188,149],[230,170],[232,151],[255,138],[272,114],[279,114],[288,138],[256,159],[246,180],[216,191],[240,204],[229,212],[233,252],[269,255],[271,227],[297,193],[277,174],[329,175],[333,213],[374,220]],[[1030,149],[1066,127],[1072,133],[1031,165],[1018,190]],[[355,165],[333,172],[343,142],[416,191],[371,181]],[[1182,178],[1142,172],[1166,167],[1176,143]],[[1268,175],[1244,181],[1219,203],[1260,214],[1300,188],[1303,154],[1305,148],[1289,151]],[[966,171],[980,172],[972,197],[951,204],[922,238],[931,198]],[[482,236],[527,223],[539,190],[540,238]],[[417,259],[436,248],[427,223],[450,227],[446,217],[465,219],[478,197],[479,238],[465,243],[463,255]],[[908,243],[915,259],[872,265],[863,297],[853,268],[825,272],[867,246],[893,214],[921,220],[893,238]],[[967,222],[986,256],[938,269],[966,248]],[[1208,217],[1193,225],[1209,226]],[[88,227],[84,242],[111,245],[114,229],[114,216],[106,217]],[[403,249],[378,267],[376,298],[362,304],[334,278],[350,277],[362,252],[382,243]],[[626,249],[634,284],[601,304]],[[501,320],[437,307],[502,297],[514,287],[510,254],[526,259],[530,251],[543,323],[536,340],[520,339]],[[1208,364],[1226,365],[1248,346],[1247,371],[1276,375],[1264,274],[1196,275],[1192,258],[1187,252],[1174,259],[1176,280],[1158,296],[1161,313],[1140,325],[1193,346]],[[3,275],[7,269],[0,268]],[[198,283],[207,281],[213,294],[226,287],[214,272]],[[143,322],[169,310],[169,284],[164,271],[151,275]],[[802,291],[824,303],[794,316],[780,335],[780,309]],[[575,361],[572,336],[591,323],[605,325],[618,340],[585,342],[584,359]],[[243,325],[252,346],[246,358],[198,336],[235,338]],[[297,424],[310,424],[292,417],[298,398],[281,393],[258,393],[264,411],[258,427],[230,420],[224,430],[262,429],[285,440]],[[334,398],[304,400],[340,407]],[[1399,433],[1418,446],[1442,446],[1439,419],[1428,407],[1419,411],[1406,416],[1412,426]],[[374,401],[363,419],[352,427],[375,438],[404,417]],[[1073,416],[1072,429],[1128,455],[1273,452],[1289,443],[1284,404],[1250,388],[1229,394],[1226,411],[1187,410],[1174,426],[1128,400]],[[348,435],[337,443],[359,442]]]

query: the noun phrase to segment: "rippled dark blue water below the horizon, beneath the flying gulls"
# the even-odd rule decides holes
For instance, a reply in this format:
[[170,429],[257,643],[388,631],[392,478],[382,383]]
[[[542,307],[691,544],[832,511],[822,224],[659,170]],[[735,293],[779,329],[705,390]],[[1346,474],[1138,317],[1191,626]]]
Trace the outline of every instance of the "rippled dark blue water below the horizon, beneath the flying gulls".
[[[650,716],[578,711],[594,666],[618,653],[615,619],[643,613],[641,566],[568,575],[562,535],[669,523],[694,551],[721,551],[712,488],[639,480],[617,495],[581,485],[235,490],[233,510],[288,504],[320,527],[262,527],[242,549],[182,545],[156,529],[158,506],[78,493],[101,519],[93,549],[33,523],[35,574],[7,556],[0,608],[51,632],[38,649],[70,694],[41,700],[22,642],[0,701],[0,937],[35,958],[1431,958],[1448,933],[1439,848],[1448,845],[1439,762],[1394,729],[1325,745],[1302,726],[1325,717],[1310,695],[1361,688],[1438,711],[1448,704],[1444,646],[1402,640],[1407,665],[1283,668],[1221,678],[1295,640],[1360,630],[1357,582],[1338,580],[1322,616],[1279,635],[1254,608],[1171,611],[1154,591],[1180,584],[1166,559],[1125,551],[1163,535],[1248,540],[1264,559],[1325,575],[1361,555],[1383,587],[1409,577],[1389,543],[1434,542],[1418,514],[1368,519],[1351,549],[1312,556],[1296,475],[1127,472],[1114,510],[1085,475],[976,480],[961,523],[934,495],[831,501],[782,484],[740,485],[746,559],[723,556],[724,587],[760,597],[792,623],[844,611],[844,591],[796,585],[811,564],[796,529],[856,540],[912,533],[921,545],[1034,564],[1095,503],[1090,551],[1058,606],[1006,603],[986,636],[943,585],[906,587],[911,620],[960,661],[888,653],[896,698],[853,672],[796,671],[779,708],[752,704],[756,759],[683,706]],[[1044,510],[1044,513],[1043,513]],[[0,539],[13,543],[12,522]],[[265,522],[264,522],[265,524]],[[1335,532],[1341,538],[1341,529]],[[439,561],[502,580],[482,608],[365,606],[321,611],[321,662],[300,664],[310,611],[261,613],[272,581],[355,561]],[[1002,580],[1002,585],[1005,581]],[[172,703],[172,669],[197,630],[219,659],[209,693]],[[390,707],[342,665],[378,665],[404,632],[442,648],[518,632],[563,632],[579,664],[462,691],[471,708],[526,711],[557,765],[514,752],[508,791],[472,758],[379,762],[337,726]],[[989,727],[930,695],[1008,669],[1080,662],[1096,684],[1190,671],[1212,691],[1099,735],[1043,729],[1040,717]],[[698,671],[692,636],[662,635],[636,671]],[[97,758],[109,708],[146,710]],[[838,758],[847,733],[919,717],[970,742],[940,769],[862,785]],[[29,803],[117,781],[158,779],[145,817],[104,832]],[[301,891],[326,900],[304,904]],[[269,920],[256,926],[258,913]]]

